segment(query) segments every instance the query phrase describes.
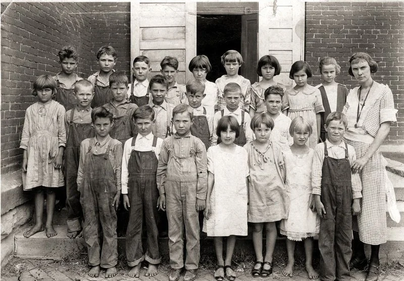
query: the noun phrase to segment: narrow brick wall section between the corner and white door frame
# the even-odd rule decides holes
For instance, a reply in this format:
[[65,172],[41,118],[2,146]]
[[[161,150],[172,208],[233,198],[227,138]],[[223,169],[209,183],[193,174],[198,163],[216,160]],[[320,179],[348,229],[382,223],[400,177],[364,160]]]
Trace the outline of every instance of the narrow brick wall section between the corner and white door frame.
[[130,76],[130,3],[92,3],[91,14],[91,71],[99,70],[96,52],[103,45],[113,46],[118,59],[116,70],[123,70]]

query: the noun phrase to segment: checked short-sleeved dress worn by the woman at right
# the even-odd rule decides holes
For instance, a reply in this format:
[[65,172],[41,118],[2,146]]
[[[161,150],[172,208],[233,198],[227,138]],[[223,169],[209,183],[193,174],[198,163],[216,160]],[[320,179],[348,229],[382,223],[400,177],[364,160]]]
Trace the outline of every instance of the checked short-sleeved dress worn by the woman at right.
[[[368,151],[379,131],[380,124],[397,119],[394,109],[393,94],[387,85],[373,82],[365,105],[357,123],[358,90],[351,89],[343,109],[348,120],[348,129],[344,134],[347,144],[355,148],[357,159],[362,158]],[[362,103],[360,103],[362,107]],[[363,243],[379,245],[387,241],[386,222],[386,181],[385,160],[379,149],[372,155],[360,173],[362,181],[361,212],[352,217],[352,230],[359,232]]]

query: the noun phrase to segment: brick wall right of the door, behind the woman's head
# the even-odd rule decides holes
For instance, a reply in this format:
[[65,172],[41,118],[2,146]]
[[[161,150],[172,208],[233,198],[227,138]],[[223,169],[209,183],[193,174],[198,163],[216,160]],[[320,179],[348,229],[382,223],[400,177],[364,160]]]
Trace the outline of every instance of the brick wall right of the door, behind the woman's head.
[[[312,70],[320,57],[334,57],[341,66],[337,82],[357,85],[348,74],[348,59],[365,51],[378,63],[374,80],[389,85],[398,109],[385,144],[404,144],[404,2],[306,3],[306,58]],[[320,76],[312,84],[320,84]]]

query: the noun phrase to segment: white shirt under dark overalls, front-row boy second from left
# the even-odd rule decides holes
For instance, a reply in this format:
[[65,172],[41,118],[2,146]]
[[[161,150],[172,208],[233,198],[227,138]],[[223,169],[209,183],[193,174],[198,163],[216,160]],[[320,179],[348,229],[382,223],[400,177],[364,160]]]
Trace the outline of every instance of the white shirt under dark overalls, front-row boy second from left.
[[[153,150],[153,133],[150,133],[146,136],[142,136],[140,134],[137,135],[135,146],[132,147],[132,140],[133,138],[128,139],[125,142],[125,146],[123,148],[123,157],[122,157],[122,174],[121,174],[121,184],[122,184],[122,194],[128,194],[128,181],[129,181],[129,170],[128,170],[128,163],[130,155],[132,154],[133,150],[136,151],[151,151]],[[155,154],[156,158],[159,159],[161,145],[163,143],[163,139],[157,138],[157,143],[155,147]]]

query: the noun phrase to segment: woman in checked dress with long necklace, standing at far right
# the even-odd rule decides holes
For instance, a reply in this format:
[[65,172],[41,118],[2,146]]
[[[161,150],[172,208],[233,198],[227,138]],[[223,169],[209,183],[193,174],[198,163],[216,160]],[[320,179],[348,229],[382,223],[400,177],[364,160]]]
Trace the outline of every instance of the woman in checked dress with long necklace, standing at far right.
[[[396,123],[397,109],[387,85],[373,80],[376,62],[365,52],[349,58],[349,75],[360,84],[349,91],[343,113],[348,120],[344,141],[354,147],[357,160],[351,163],[352,173],[359,173],[362,181],[361,212],[352,217],[352,258],[349,267],[364,269],[368,265],[367,281],[378,279],[380,244],[387,241],[386,197],[392,220],[398,222],[394,189],[387,177],[380,145]],[[386,196],[387,195],[387,196]],[[371,246],[370,261],[364,244]]]

